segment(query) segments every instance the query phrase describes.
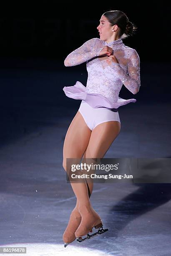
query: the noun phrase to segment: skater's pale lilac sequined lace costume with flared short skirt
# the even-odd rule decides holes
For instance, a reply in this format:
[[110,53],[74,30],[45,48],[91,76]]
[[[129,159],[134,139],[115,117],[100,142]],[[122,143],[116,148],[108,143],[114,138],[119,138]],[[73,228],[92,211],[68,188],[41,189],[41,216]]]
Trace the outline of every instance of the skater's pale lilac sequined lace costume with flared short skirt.
[[[99,56],[99,53],[106,45],[113,49],[113,55],[116,56],[119,63],[112,61],[109,65],[106,62],[108,56]],[[66,67],[70,67],[85,61],[87,61],[86,67],[88,71],[86,87],[77,81],[73,86],[63,88],[65,95],[73,99],[82,100],[79,111],[84,115],[85,121],[87,120],[85,113],[87,110],[90,111],[91,107],[92,113],[93,109],[105,109],[111,115],[112,110],[113,120],[117,119],[120,122],[119,116],[116,117],[117,109],[130,102],[136,102],[136,99],[125,100],[118,96],[122,85],[124,84],[133,94],[136,94],[141,86],[140,58],[137,51],[125,46],[121,38],[110,43],[99,38],[92,38],[78,49],[72,51],[65,58],[64,64]],[[95,112],[93,116],[95,118]],[[88,124],[88,121],[86,123]],[[91,121],[91,123],[93,122]],[[91,130],[92,127],[95,128],[95,126],[91,125]]]

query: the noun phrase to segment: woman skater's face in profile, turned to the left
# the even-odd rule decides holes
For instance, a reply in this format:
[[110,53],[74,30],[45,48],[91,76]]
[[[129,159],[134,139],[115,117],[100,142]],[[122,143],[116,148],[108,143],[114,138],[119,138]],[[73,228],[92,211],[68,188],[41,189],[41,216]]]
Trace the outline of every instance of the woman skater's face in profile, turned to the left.
[[100,24],[98,25],[97,29],[100,33],[100,39],[103,41],[107,41],[108,38],[111,38],[113,36],[113,29],[117,29],[117,25],[111,26],[111,23],[108,21],[108,19],[102,15],[100,19]]

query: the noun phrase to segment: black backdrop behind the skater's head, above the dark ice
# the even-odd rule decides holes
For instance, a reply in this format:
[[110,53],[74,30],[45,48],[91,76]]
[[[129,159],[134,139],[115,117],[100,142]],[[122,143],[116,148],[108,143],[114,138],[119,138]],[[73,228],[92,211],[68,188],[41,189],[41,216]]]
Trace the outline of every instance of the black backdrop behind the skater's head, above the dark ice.
[[166,47],[170,11],[162,3],[149,7],[145,2],[132,1],[110,5],[92,1],[8,1],[1,6],[1,56],[63,60],[88,39],[99,38],[97,26],[104,12],[121,10],[138,27],[124,43],[137,49],[141,61],[169,62]]

